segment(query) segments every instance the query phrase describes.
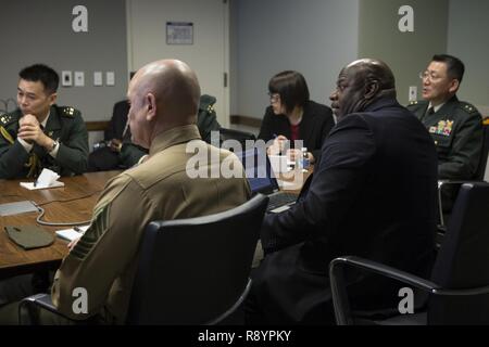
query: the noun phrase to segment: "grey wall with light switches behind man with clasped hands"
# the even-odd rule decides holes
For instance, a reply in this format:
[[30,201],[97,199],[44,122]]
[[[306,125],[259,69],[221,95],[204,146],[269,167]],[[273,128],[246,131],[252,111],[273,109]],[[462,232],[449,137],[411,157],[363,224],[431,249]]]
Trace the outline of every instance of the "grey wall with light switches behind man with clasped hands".
[[[88,9],[88,33],[72,29],[73,8]],[[58,104],[82,111],[86,121],[108,120],[127,91],[124,0],[1,1],[0,99],[16,97],[18,72],[45,63],[58,73],[85,72],[85,87],[61,87]],[[115,72],[114,87],[93,87],[93,72]],[[61,76],[60,76],[61,77]],[[2,105],[0,104],[0,107]],[[13,111],[10,103],[9,111]]]

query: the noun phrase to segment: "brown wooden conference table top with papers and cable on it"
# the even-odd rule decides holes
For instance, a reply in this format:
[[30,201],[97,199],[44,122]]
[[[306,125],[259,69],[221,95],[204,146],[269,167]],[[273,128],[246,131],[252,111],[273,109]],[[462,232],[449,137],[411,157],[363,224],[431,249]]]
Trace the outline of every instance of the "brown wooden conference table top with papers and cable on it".
[[[0,180],[0,204],[30,201],[45,209],[42,221],[76,223],[89,221],[97,198],[105,183],[121,171],[90,172],[75,177],[62,177],[63,188],[29,191],[20,185],[28,180]],[[57,269],[67,254],[67,241],[54,239],[51,246],[25,250],[13,243],[4,228],[7,226],[38,226],[39,211],[0,217],[0,279],[38,270]],[[57,230],[70,227],[45,227],[55,234]]]

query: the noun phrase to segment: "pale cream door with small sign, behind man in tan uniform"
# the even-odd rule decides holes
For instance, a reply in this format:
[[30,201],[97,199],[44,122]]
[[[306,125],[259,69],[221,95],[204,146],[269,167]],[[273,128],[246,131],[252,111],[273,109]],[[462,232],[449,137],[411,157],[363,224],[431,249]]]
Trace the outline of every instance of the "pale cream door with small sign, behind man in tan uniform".
[[[131,69],[161,59],[179,59],[196,72],[202,93],[217,99],[221,125],[228,126],[228,5],[223,0],[128,0],[128,50]],[[166,23],[193,24],[192,44],[168,44]]]

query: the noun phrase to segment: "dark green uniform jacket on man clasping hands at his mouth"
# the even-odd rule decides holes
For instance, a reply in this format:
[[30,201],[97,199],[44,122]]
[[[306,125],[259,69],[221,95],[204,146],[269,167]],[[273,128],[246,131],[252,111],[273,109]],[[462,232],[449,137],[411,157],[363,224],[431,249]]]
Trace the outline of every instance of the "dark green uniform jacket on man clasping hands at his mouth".
[[45,133],[60,143],[57,158],[34,144],[30,153],[16,141],[21,110],[0,116],[0,179],[35,177],[43,168],[61,176],[83,174],[88,165],[88,132],[79,111],[52,105]]

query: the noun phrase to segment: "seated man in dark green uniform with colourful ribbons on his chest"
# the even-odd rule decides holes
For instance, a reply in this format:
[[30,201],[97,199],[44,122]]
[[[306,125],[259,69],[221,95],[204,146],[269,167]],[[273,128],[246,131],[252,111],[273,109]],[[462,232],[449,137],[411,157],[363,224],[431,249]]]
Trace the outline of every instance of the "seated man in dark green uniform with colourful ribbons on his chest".
[[[419,76],[424,101],[408,106],[435,141],[440,180],[471,180],[480,160],[482,118],[476,107],[456,98],[464,72],[464,64],[459,59],[435,55]],[[455,194],[456,191],[450,188],[442,191],[444,211],[450,211]]]

